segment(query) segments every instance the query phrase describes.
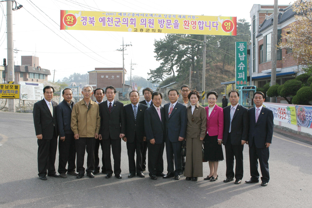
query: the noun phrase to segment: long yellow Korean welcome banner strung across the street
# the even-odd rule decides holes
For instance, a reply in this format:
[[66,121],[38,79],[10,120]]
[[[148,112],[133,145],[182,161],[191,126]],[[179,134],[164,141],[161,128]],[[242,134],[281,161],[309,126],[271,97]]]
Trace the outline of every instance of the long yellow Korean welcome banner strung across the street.
[[236,17],[61,10],[61,30],[236,36]]

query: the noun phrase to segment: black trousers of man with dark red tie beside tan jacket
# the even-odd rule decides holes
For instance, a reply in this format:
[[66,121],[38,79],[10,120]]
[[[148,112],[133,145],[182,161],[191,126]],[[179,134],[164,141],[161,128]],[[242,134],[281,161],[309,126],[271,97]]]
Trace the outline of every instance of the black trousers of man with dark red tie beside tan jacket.
[[114,158],[114,173],[118,175],[121,173],[120,160],[121,160],[121,138],[118,139],[105,139],[102,140],[104,145],[104,160],[107,174],[113,174],[112,162],[110,160],[110,146],[112,147]]

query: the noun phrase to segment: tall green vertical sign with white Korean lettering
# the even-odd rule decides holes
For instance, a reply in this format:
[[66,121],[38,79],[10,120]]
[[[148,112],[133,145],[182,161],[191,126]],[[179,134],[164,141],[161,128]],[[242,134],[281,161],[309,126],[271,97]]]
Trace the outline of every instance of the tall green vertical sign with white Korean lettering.
[[247,85],[247,42],[235,42],[236,89]]

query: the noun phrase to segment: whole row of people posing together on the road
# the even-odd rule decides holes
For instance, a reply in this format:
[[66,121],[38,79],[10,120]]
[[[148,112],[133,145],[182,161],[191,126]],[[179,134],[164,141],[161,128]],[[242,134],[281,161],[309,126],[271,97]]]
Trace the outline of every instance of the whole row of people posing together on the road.
[[[116,178],[121,179],[123,140],[127,146],[129,178],[135,175],[145,177],[143,172],[148,152],[149,177],[153,180],[157,180],[157,177],[179,180],[180,175],[184,174],[186,180],[197,181],[198,177],[203,176],[203,162],[208,161],[210,173],[204,180],[216,181],[218,163],[224,159],[223,143],[227,166],[224,182],[233,181],[235,177],[235,184],[240,184],[243,177],[243,147],[246,143],[249,145],[251,178],[245,182],[259,182],[258,160],[262,174],[261,186],[269,182],[273,113],[262,106],[262,92],[254,93],[256,106],[251,109],[238,104],[239,94],[235,90],[229,93],[231,105],[224,108],[216,104],[217,92],[208,92],[208,106],[204,108],[199,105],[198,91],[191,91],[188,85],[182,85],[181,98],[177,89],[170,89],[170,103],[163,106],[163,95],[150,88],[143,89],[144,100],[141,102],[139,92],[131,91],[131,104],[125,106],[115,100],[116,89],[113,86],[93,91],[92,86],[85,85],[81,92],[84,98],[76,104],[72,101],[71,89],[62,91],[64,100],[59,105],[52,101],[53,92],[53,87],[46,86],[43,89],[44,99],[38,101],[33,109],[38,138],[38,176],[41,180],[46,180],[46,175],[66,178],[66,172],[77,178],[83,177],[86,172],[88,177],[93,178],[94,174],[100,172],[100,146],[101,172],[106,174],[105,178],[112,177],[114,173]],[[95,102],[91,100],[93,93]],[[104,95],[106,101],[103,101]],[[222,103],[224,99],[225,95]],[[60,175],[56,174],[54,166],[58,136]],[[182,152],[183,141],[186,143],[186,157]],[[167,174],[163,173],[165,147]],[[88,154],[86,169],[85,151]]]

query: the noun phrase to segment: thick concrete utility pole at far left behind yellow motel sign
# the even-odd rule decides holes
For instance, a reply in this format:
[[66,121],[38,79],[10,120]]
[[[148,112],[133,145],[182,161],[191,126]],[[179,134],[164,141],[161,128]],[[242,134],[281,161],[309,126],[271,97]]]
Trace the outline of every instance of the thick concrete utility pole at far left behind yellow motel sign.
[[[12,0],[7,0],[7,81],[14,83]],[[9,112],[15,112],[15,99],[8,99]]]

